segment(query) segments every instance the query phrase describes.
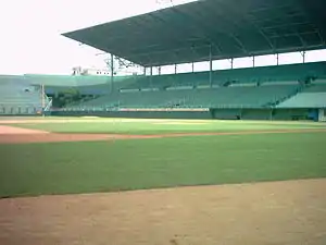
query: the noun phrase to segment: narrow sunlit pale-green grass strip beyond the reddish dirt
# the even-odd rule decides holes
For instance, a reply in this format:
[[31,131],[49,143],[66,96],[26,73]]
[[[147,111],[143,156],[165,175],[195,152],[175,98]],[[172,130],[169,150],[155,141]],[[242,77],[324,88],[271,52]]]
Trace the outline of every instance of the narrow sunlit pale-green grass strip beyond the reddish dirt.
[[[60,120],[58,120],[60,121]],[[4,122],[2,122],[4,124]],[[42,130],[55,133],[115,133],[115,134],[168,134],[192,132],[237,132],[237,131],[277,131],[300,128],[325,128],[323,123],[289,123],[289,122],[246,122],[246,121],[191,121],[191,120],[121,120],[93,119],[89,122],[66,120],[64,123],[17,123],[10,124],[25,128]]]

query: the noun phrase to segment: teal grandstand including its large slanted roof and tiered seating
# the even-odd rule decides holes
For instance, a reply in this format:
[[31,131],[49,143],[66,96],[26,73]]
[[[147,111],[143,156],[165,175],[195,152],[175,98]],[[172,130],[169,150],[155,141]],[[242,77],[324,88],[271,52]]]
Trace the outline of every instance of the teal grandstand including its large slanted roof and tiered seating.
[[[323,0],[190,2],[63,34],[143,66],[149,71],[143,75],[18,79],[43,85],[46,101],[78,95],[77,101],[52,108],[55,115],[183,118],[188,111],[187,118],[324,120],[318,115],[326,114],[326,62],[308,63],[305,52],[326,48],[325,7]],[[302,62],[280,65],[279,56],[293,51]],[[275,54],[275,64],[255,66],[264,54]],[[252,68],[234,69],[234,61],[246,57]],[[213,70],[221,59],[231,68]],[[195,62],[206,62],[209,71],[195,72]],[[192,72],[177,73],[181,63],[191,63]],[[164,65],[175,65],[175,73],[153,75]]]

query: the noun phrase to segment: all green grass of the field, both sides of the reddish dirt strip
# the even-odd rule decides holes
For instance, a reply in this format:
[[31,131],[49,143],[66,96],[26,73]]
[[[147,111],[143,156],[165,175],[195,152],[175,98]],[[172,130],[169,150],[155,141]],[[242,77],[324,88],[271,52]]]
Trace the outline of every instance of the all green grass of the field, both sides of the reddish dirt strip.
[[322,123],[64,120],[10,125],[59,133],[296,132],[2,144],[1,197],[326,177],[326,131],[297,132],[325,130]]

